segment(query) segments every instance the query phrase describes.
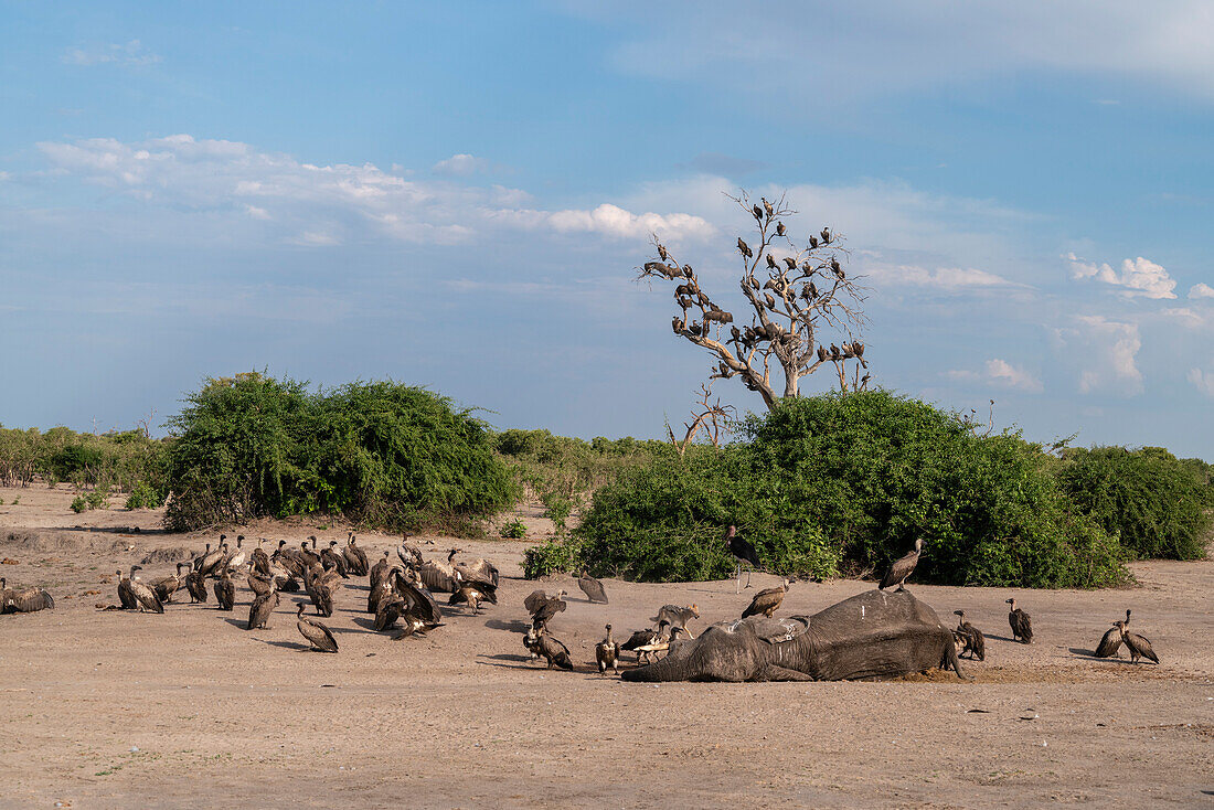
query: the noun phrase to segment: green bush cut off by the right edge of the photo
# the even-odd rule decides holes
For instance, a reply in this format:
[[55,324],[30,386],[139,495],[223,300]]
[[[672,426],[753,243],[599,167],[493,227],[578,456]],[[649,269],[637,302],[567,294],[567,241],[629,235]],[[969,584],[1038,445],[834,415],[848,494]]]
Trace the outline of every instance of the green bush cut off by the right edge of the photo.
[[1072,449],[1056,476],[1076,506],[1134,555],[1206,555],[1209,480],[1193,460],[1181,461],[1158,447]]

